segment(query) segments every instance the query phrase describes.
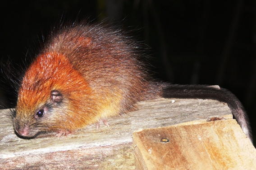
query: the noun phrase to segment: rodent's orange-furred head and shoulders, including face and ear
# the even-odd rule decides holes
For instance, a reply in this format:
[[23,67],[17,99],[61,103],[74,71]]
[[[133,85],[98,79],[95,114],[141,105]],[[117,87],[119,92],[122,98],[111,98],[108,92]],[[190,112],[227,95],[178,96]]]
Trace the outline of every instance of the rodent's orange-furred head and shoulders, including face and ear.
[[73,114],[90,91],[67,58],[60,54],[41,54],[25,72],[19,88],[15,131],[33,137],[41,131],[74,129],[80,118]]

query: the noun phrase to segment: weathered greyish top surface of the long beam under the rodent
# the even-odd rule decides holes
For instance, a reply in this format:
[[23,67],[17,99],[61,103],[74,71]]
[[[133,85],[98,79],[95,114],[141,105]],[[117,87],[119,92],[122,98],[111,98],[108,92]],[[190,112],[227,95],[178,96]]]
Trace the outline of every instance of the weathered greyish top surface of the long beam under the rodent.
[[[216,100],[159,98],[140,102],[137,106],[137,111],[123,114],[119,118],[109,118],[109,127],[101,123],[99,130],[96,130],[95,125],[91,125],[68,137],[55,137],[52,133],[40,135],[31,140],[18,138],[14,134],[8,110],[1,110],[0,159],[2,163],[6,163],[9,162],[7,160],[14,160],[15,157],[24,158],[38,154],[42,156],[46,153],[81,151],[81,149],[87,150],[85,151],[87,153],[99,155],[102,153],[100,150],[102,147],[111,148],[130,144],[130,149],[132,149],[132,134],[138,129],[163,127],[217,116],[232,118],[228,106]],[[99,150],[89,152],[91,148]],[[129,159],[134,159],[134,157],[129,157]],[[23,165],[26,164],[23,162]]]

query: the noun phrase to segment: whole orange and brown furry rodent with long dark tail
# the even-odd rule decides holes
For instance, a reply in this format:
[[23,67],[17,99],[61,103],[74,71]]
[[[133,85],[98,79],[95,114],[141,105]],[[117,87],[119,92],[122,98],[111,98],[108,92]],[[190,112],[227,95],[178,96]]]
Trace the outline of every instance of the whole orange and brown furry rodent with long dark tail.
[[136,43],[122,31],[81,23],[60,28],[25,71],[14,111],[15,131],[27,138],[42,131],[68,135],[101,119],[108,125],[106,118],[161,96],[226,102],[252,141],[247,114],[231,92],[155,82],[139,57]]

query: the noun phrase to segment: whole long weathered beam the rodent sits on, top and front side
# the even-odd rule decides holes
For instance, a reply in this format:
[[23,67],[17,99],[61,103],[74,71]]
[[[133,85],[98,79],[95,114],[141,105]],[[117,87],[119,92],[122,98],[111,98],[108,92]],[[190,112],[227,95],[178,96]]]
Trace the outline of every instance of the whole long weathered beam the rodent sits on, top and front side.
[[[36,169],[37,165],[38,169],[65,169],[65,162],[69,162],[70,166],[82,166],[85,169],[93,169],[93,167],[110,170],[135,169],[134,157],[130,155],[133,153],[133,131],[215,116],[232,118],[228,106],[216,100],[159,98],[140,102],[137,106],[137,111],[123,114],[118,118],[109,118],[109,127],[101,123],[99,130],[96,130],[95,125],[91,125],[68,137],[55,137],[53,133],[40,135],[31,140],[20,139],[14,134],[9,113],[7,110],[2,110],[0,111],[0,163],[5,165],[6,169],[26,169],[32,165],[34,165],[33,169]],[[70,154],[67,154],[68,152]],[[74,152],[79,154],[71,154]],[[64,160],[61,161],[60,156],[59,159],[57,158],[62,154]],[[76,159],[83,160],[84,163],[81,165],[81,161],[73,161],[72,164],[72,160]],[[57,168],[56,165],[59,167]]]

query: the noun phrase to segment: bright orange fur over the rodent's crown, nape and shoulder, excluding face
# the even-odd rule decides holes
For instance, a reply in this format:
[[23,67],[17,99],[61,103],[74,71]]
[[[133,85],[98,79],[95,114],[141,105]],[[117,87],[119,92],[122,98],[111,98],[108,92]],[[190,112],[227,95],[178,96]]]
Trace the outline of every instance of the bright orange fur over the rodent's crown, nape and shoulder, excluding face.
[[[52,128],[77,129],[90,124],[88,118],[79,115],[81,111],[86,114],[82,108],[87,107],[91,108],[88,117],[95,116],[93,100],[90,103],[81,101],[90,99],[91,88],[82,75],[73,69],[66,57],[54,53],[37,57],[24,75],[18,93],[16,117],[22,117],[19,114],[36,114],[37,110],[50,100],[50,93],[54,90],[60,91],[69,102],[65,104],[66,113],[60,113],[59,118],[55,118],[55,126]],[[80,109],[77,110],[78,108]],[[70,122],[76,123],[73,125]]]

